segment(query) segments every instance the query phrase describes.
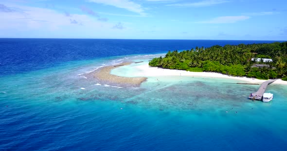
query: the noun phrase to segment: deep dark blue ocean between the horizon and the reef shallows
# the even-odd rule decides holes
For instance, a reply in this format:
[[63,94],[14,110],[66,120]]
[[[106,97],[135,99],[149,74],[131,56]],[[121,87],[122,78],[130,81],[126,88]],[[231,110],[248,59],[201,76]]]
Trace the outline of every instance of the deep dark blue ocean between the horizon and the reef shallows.
[[0,75],[57,66],[67,61],[166,53],[196,46],[272,43],[232,40],[0,39]]

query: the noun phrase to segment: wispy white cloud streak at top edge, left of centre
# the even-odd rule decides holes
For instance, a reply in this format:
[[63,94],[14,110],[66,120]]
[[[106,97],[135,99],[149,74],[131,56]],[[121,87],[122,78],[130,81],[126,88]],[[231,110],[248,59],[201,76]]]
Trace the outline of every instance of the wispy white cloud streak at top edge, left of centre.
[[140,15],[145,15],[142,6],[131,0],[88,0],[90,2],[111,5],[118,8],[126,9],[130,12],[138,13]]

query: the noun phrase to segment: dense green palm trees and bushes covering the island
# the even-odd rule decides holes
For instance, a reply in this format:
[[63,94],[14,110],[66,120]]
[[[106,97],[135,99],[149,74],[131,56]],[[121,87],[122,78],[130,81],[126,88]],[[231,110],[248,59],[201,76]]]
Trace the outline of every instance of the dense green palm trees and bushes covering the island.
[[[251,60],[255,58],[254,60]],[[259,62],[257,58],[272,59]],[[265,64],[256,67],[254,64]],[[214,45],[181,52],[168,51],[164,58],[154,58],[150,66],[193,72],[218,72],[232,76],[287,80],[287,42],[251,45]]]

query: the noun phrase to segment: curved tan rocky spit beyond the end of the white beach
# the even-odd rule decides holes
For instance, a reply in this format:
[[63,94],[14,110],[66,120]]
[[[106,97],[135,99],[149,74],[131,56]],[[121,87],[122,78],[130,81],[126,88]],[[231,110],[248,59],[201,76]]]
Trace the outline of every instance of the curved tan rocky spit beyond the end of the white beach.
[[124,62],[117,65],[102,67],[99,70],[93,71],[89,74],[87,74],[88,78],[96,78],[103,82],[108,82],[112,84],[118,84],[118,85],[132,85],[132,86],[140,86],[143,81],[145,81],[146,77],[124,77],[124,76],[116,76],[111,75],[110,71],[112,69],[131,64],[131,62]]

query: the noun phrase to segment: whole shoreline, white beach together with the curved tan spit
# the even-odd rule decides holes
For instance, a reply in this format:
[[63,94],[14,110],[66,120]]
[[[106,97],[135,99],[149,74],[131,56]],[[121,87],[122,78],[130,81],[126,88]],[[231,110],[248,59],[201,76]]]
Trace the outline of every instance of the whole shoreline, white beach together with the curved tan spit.
[[[141,61],[142,62],[142,61]],[[245,84],[261,84],[267,80],[260,80],[256,78],[249,77],[238,77],[238,76],[229,76],[223,75],[220,73],[211,73],[211,72],[190,72],[185,70],[172,70],[172,69],[163,69],[158,67],[151,67],[148,65],[148,62],[144,61],[141,64],[133,66],[137,72],[132,72],[130,75],[133,77],[120,76],[111,74],[111,70],[115,68],[121,68],[129,66],[130,64],[135,64],[135,62],[124,62],[117,65],[105,66],[99,70],[92,71],[86,74],[87,78],[95,78],[102,82],[108,82],[112,84],[117,84],[118,86],[134,86],[139,87],[142,82],[146,81],[148,78],[162,77],[162,76],[189,76],[189,77],[211,77],[211,78],[225,78],[233,79],[239,81],[245,81]],[[124,70],[124,69],[123,69]],[[276,79],[273,84],[282,84],[287,85],[287,81],[281,79]]]

